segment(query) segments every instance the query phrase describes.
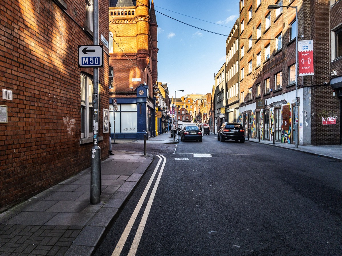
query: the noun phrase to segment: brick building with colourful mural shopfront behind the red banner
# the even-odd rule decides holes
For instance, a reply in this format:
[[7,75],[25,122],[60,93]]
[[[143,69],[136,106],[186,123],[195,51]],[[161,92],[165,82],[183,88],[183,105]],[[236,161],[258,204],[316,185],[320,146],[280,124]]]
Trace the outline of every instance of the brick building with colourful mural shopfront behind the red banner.
[[[268,5],[282,5],[268,10]],[[338,5],[339,3],[336,3]],[[298,24],[295,9],[298,6]],[[339,99],[329,86],[329,1],[240,1],[240,113],[252,138],[299,145],[340,143],[340,123],[322,118],[339,116]],[[299,41],[313,40],[314,75],[298,76],[299,119],[295,122],[295,31]],[[303,36],[303,37],[302,37]],[[246,133],[247,136],[247,133]]]

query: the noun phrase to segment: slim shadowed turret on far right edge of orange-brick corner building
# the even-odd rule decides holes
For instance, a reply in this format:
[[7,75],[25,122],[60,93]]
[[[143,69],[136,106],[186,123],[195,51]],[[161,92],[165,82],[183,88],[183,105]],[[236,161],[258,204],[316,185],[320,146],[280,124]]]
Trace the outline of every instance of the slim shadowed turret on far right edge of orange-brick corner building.
[[156,13],[154,10],[154,3],[152,0],[151,3],[151,9],[150,9],[150,34],[152,38],[152,82],[155,84],[158,80],[158,40],[157,40],[157,19],[156,19]]

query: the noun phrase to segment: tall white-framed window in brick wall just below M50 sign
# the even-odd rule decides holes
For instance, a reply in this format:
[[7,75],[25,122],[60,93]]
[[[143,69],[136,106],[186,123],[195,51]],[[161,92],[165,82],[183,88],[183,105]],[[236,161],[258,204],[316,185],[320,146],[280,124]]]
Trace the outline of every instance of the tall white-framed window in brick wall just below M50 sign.
[[93,80],[81,74],[81,137],[93,135]]

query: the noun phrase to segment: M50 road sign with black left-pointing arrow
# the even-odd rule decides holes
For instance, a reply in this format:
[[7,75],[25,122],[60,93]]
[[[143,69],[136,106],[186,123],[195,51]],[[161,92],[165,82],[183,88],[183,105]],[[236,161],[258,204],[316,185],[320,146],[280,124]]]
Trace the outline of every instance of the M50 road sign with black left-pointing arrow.
[[78,46],[79,68],[102,68],[103,45],[79,45]]

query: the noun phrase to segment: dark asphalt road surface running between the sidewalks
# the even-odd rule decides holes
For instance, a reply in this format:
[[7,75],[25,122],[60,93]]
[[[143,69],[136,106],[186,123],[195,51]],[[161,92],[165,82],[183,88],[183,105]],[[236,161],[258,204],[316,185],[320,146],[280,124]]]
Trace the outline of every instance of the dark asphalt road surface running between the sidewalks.
[[165,160],[155,156],[95,255],[342,254],[340,162],[214,134],[147,153]]

